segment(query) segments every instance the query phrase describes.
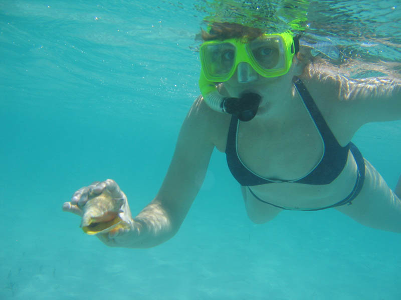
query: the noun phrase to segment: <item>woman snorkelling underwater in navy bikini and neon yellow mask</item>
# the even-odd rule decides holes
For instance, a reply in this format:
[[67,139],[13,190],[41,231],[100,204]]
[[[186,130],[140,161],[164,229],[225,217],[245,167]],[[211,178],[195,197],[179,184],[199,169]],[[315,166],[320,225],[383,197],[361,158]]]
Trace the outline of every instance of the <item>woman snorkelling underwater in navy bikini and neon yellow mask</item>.
[[283,209],[334,207],[364,225],[401,232],[400,181],[392,191],[350,143],[367,122],[401,119],[401,82],[351,80],[327,64],[306,63],[288,32],[215,23],[203,37],[203,96],[181,126],[156,197],[132,218],[125,194],[108,179],[79,189],[65,211],[82,215],[89,199],[109,191],[121,199],[125,225],[97,236],[110,246],[155,246],[179,229],[216,147],[226,152],[256,223]]

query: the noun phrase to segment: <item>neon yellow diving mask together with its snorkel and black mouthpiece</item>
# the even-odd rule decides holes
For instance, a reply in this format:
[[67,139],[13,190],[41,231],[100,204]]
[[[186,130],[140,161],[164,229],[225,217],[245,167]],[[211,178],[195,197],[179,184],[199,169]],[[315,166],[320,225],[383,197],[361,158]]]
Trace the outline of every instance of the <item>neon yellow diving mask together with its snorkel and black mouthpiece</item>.
[[229,80],[242,62],[263,77],[284,75],[291,67],[297,46],[289,32],[263,34],[249,42],[244,38],[204,42],[199,49],[202,64],[199,88],[206,103],[214,110],[235,114],[240,120],[251,120],[256,115],[260,95],[247,93],[241,98],[224,98],[216,83]]

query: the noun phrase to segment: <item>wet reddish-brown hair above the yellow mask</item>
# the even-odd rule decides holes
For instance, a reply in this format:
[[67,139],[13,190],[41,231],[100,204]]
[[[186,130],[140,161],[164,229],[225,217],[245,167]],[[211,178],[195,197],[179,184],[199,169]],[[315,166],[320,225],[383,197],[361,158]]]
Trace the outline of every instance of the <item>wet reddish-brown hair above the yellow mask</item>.
[[245,38],[247,41],[253,40],[263,34],[262,29],[245,26],[238,23],[214,22],[209,32],[202,29],[203,40],[228,38]]

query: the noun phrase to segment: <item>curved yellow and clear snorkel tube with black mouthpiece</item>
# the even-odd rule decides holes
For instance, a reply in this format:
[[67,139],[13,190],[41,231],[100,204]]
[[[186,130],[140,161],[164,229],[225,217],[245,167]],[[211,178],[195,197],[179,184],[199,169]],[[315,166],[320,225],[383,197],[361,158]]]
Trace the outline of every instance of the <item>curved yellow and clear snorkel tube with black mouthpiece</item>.
[[224,97],[216,88],[214,82],[206,79],[204,71],[200,71],[199,89],[206,104],[218,112],[230,113],[241,121],[253,119],[258,112],[261,96],[254,92],[245,92],[239,98]]

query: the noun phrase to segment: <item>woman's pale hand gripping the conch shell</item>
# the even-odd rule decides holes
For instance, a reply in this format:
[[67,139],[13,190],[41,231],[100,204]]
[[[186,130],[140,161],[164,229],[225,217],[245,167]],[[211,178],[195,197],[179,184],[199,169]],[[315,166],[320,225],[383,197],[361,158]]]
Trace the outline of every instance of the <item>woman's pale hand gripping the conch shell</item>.
[[[118,199],[118,202],[121,202],[118,217],[122,220],[122,224],[121,226],[117,226],[111,230],[105,230],[102,233],[98,233],[97,236],[107,245],[116,246],[118,245],[116,240],[117,236],[119,237],[118,239],[121,239],[123,233],[133,231],[133,220],[127,197],[114,180],[107,179],[101,182],[95,181],[89,186],[78,189],[72,196],[71,200],[63,204],[63,210],[82,216],[84,213],[84,205],[90,199],[103,192],[108,192],[113,199]],[[105,212],[105,214],[107,214],[107,212]]]

